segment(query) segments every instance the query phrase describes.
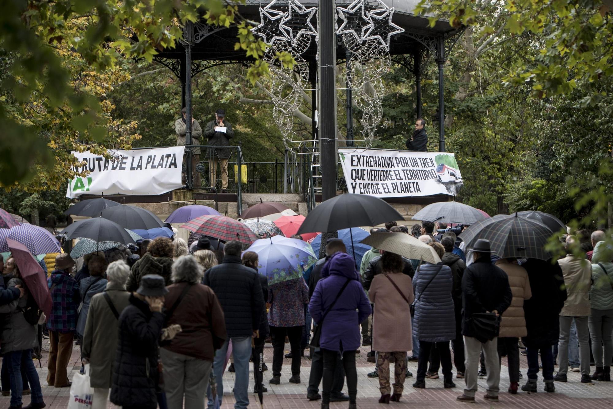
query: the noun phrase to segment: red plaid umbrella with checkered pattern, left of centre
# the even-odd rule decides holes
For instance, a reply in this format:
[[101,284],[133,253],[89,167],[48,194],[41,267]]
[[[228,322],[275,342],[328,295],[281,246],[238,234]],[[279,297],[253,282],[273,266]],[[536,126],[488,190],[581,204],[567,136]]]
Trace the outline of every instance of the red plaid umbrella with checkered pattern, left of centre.
[[181,227],[224,241],[238,240],[251,244],[257,240],[256,233],[252,232],[249,227],[227,216],[200,216],[189,220]]

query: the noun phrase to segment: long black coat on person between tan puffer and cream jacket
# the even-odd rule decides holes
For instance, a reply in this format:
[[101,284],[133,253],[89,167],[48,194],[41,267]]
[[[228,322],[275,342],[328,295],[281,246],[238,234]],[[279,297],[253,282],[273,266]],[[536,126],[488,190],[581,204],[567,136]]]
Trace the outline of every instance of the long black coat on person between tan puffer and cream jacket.
[[559,314],[566,301],[566,287],[562,268],[556,262],[528,259],[522,263],[528,273],[532,298],[524,301],[524,314],[528,336],[526,346],[542,347],[558,343],[560,337]]

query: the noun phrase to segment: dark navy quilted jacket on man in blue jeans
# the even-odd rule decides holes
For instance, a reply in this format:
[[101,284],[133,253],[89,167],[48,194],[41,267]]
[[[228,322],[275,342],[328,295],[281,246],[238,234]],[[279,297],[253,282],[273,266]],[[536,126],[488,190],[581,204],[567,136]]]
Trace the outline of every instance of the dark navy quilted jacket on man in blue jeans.
[[226,317],[228,337],[250,337],[259,329],[264,294],[258,274],[243,265],[237,255],[224,256],[202,279],[215,292]]

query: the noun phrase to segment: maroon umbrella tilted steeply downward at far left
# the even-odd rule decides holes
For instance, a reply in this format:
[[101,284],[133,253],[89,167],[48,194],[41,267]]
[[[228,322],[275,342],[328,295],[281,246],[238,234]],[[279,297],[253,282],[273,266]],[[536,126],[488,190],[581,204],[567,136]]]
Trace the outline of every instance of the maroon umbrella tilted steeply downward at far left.
[[7,239],[6,242],[15,259],[15,263],[17,263],[17,267],[19,267],[21,277],[23,277],[26,286],[28,286],[30,294],[32,294],[32,297],[36,300],[40,310],[42,310],[46,316],[49,316],[51,314],[53,302],[51,301],[51,294],[47,287],[47,276],[45,276],[45,271],[42,270],[42,267],[40,267],[36,259],[32,257],[28,247],[15,240]]

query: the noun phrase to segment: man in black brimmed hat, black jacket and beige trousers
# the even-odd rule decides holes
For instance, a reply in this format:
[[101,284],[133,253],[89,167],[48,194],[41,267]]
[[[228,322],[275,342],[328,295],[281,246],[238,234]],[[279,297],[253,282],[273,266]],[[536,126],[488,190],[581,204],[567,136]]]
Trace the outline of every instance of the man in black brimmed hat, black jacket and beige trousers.
[[[477,392],[477,370],[479,356],[483,349],[487,368],[487,393],[485,400],[498,402],[500,366],[498,362],[498,338],[484,340],[471,325],[471,316],[476,313],[504,313],[511,305],[513,295],[509,278],[499,267],[492,264],[489,240],[479,239],[474,243],[474,262],[466,267],[462,277],[463,323],[466,351],[466,373],[464,393],[457,397],[460,402],[474,402]],[[480,338],[480,340],[478,339]]]

